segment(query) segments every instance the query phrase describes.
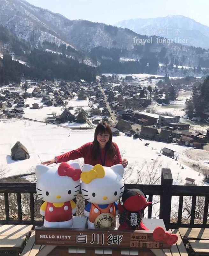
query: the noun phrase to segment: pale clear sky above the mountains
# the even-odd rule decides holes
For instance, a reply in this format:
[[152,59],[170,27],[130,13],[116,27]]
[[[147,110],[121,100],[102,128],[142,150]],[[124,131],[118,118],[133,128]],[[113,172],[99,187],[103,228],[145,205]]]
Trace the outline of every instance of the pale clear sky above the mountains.
[[114,25],[120,20],[184,15],[209,26],[208,0],[27,0],[69,20]]

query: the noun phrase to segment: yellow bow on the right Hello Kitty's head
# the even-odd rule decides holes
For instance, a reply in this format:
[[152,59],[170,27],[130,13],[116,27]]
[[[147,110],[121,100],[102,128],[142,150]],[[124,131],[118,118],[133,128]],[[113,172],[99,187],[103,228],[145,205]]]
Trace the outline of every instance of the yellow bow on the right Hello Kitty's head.
[[96,164],[93,169],[88,172],[81,173],[81,180],[88,184],[96,178],[103,178],[105,176],[105,169],[101,164]]

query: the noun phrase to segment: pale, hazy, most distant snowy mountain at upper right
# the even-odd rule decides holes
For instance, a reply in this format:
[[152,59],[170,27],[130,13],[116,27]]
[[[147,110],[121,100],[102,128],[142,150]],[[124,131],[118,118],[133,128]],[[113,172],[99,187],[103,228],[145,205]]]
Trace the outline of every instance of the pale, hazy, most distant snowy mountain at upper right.
[[179,41],[188,39],[185,42],[186,45],[209,48],[209,27],[181,15],[122,20],[115,25],[129,28],[141,35],[164,36],[169,39],[179,38]]

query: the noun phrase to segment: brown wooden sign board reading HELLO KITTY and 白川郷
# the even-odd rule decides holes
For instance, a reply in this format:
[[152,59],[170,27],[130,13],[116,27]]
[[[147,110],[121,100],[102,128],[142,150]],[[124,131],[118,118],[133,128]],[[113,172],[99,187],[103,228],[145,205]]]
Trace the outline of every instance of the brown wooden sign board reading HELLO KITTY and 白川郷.
[[170,249],[164,241],[155,242],[153,231],[73,228],[35,228],[36,244],[104,248]]

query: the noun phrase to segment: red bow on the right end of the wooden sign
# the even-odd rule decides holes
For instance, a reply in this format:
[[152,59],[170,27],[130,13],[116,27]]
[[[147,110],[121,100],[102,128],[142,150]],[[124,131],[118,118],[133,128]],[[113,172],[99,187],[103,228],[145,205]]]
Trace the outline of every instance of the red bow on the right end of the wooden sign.
[[167,244],[172,245],[178,241],[178,236],[176,234],[169,234],[165,232],[162,227],[156,227],[153,231],[153,239],[155,241],[165,241]]

